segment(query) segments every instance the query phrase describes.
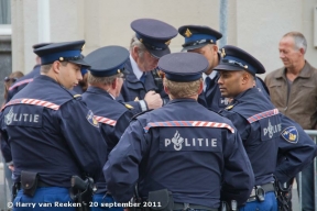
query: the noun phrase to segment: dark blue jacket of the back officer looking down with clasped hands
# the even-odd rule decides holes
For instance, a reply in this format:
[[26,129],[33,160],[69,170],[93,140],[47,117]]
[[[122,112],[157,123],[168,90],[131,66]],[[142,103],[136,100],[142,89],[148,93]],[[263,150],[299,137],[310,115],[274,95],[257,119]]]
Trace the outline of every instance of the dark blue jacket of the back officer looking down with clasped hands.
[[145,93],[147,91],[161,91],[161,98],[164,99],[165,102],[168,101],[168,96],[165,93],[164,90],[157,89],[154,78],[150,71],[146,74],[145,84],[143,85],[143,82],[135,77],[130,58],[127,60],[124,68],[129,70],[129,75],[127,75],[123,82],[121,95],[117,98],[118,101],[128,102],[134,109],[138,109],[139,112],[141,112],[142,109],[136,99],[144,100]]

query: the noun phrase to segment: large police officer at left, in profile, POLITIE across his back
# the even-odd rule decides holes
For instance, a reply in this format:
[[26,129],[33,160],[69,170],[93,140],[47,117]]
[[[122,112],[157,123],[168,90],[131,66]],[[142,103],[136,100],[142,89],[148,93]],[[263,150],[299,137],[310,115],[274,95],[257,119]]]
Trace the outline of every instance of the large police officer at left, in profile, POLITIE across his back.
[[80,57],[84,44],[55,43],[35,49],[42,75],[2,110],[2,141],[10,144],[15,185],[21,186],[13,210],[41,210],[43,202],[47,210],[75,210],[61,207],[73,202],[72,176],[95,180],[100,176],[107,145],[99,123],[80,96],[68,91],[81,79],[80,66],[88,66]]

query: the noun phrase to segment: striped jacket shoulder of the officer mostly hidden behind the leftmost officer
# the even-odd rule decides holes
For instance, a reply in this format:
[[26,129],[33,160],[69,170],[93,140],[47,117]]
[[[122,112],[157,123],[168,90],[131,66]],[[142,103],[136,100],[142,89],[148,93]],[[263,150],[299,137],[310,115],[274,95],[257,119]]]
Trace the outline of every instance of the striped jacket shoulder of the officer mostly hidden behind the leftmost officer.
[[10,88],[7,97],[7,101],[9,102],[15,93],[18,93],[21,89],[23,89],[29,82],[33,80],[36,76],[40,76],[41,65],[35,65],[32,71],[26,74],[25,76],[19,78]]

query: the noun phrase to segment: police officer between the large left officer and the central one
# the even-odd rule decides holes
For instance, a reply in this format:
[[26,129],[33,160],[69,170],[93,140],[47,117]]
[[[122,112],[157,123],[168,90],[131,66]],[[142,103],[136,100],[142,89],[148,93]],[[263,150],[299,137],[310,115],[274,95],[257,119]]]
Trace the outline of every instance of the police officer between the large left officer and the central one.
[[[103,140],[110,152],[119,142],[124,130],[134,115],[131,106],[116,101],[124,80],[124,63],[129,58],[129,52],[121,46],[106,46],[98,48],[85,57],[85,62],[91,65],[88,73],[89,87],[83,95],[84,101],[94,111],[96,120],[100,123]],[[106,151],[106,148],[105,148]],[[107,192],[107,184],[103,175],[97,180],[97,191],[94,195],[92,211],[109,210],[102,203],[113,203],[111,195]],[[105,197],[106,196],[106,197]],[[123,210],[112,207],[110,210]]]

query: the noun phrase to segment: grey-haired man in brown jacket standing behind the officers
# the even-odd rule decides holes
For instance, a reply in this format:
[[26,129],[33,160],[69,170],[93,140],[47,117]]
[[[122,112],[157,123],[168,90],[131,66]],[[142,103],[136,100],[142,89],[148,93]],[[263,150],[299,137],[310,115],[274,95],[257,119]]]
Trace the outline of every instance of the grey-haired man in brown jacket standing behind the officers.
[[[299,32],[288,32],[280,41],[284,67],[269,74],[265,84],[273,104],[305,130],[317,129],[317,69],[305,60],[307,42]],[[303,170],[303,210],[314,208],[314,167]]]

